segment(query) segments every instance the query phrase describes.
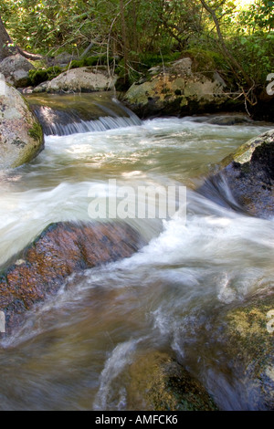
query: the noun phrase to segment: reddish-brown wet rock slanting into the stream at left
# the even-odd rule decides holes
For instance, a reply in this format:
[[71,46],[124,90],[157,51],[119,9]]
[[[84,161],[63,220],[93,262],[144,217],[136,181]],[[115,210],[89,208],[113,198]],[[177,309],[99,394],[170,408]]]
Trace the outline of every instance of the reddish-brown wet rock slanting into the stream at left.
[[47,226],[0,277],[0,310],[6,330],[20,323],[26,310],[58,291],[68,276],[132,256],[142,239],[126,224],[76,224]]

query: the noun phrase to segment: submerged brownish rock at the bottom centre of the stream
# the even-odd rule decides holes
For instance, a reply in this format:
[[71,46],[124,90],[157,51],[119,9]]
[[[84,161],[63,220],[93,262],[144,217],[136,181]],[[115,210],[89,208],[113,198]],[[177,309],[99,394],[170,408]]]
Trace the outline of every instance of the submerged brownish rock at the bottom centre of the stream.
[[[132,363],[130,409],[216,411],[216,404],[188,371],[167,353],[147,353]],[[137,407],[136,407],[137,404]],[[139,406],[139,408],[138,408]]]

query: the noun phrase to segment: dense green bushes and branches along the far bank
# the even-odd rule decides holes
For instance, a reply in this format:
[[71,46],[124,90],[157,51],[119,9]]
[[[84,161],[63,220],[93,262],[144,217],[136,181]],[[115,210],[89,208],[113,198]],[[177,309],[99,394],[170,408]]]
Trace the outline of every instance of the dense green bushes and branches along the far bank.
[[0,14],[18,46],[47,58],[103,58],[128,82],[187,54],[252,101],[274,71],[274,1],[2,0]]

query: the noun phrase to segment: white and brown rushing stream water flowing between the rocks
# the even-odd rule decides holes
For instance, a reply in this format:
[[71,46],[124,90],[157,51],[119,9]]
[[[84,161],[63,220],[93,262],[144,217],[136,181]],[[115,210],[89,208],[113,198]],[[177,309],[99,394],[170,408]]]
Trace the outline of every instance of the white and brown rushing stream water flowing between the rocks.
[[34,162],[1,174],[1,265],[50,222],[90,220],[90,189],[111,193],[114,179],[132,189],[187,186],[186,219],[180,212],[125,219],[147,246],[69,278],[58,296],[29,312],[2,341],[0,409],[145,409],[131,368],[137,362],[138,373],[138,359],[153,351],[174,353],[222,409],[252,408],[216,345],[205,345],[199,332],[212,311],[273,277],[274,224],[195,187],[216,162],[272,126],[218,126],[208,117],[121,125],[47,136]]

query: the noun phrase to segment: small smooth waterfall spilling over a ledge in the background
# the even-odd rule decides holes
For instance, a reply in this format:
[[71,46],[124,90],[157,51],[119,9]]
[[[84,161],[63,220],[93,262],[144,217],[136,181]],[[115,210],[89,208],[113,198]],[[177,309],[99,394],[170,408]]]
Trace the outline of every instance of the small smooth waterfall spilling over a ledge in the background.
[[[141,125],[142,121],[118,99],[93,94],[31,97],[32,110],[46,136],[108,131]],[[61,102],[61,104],[60,104]]]

